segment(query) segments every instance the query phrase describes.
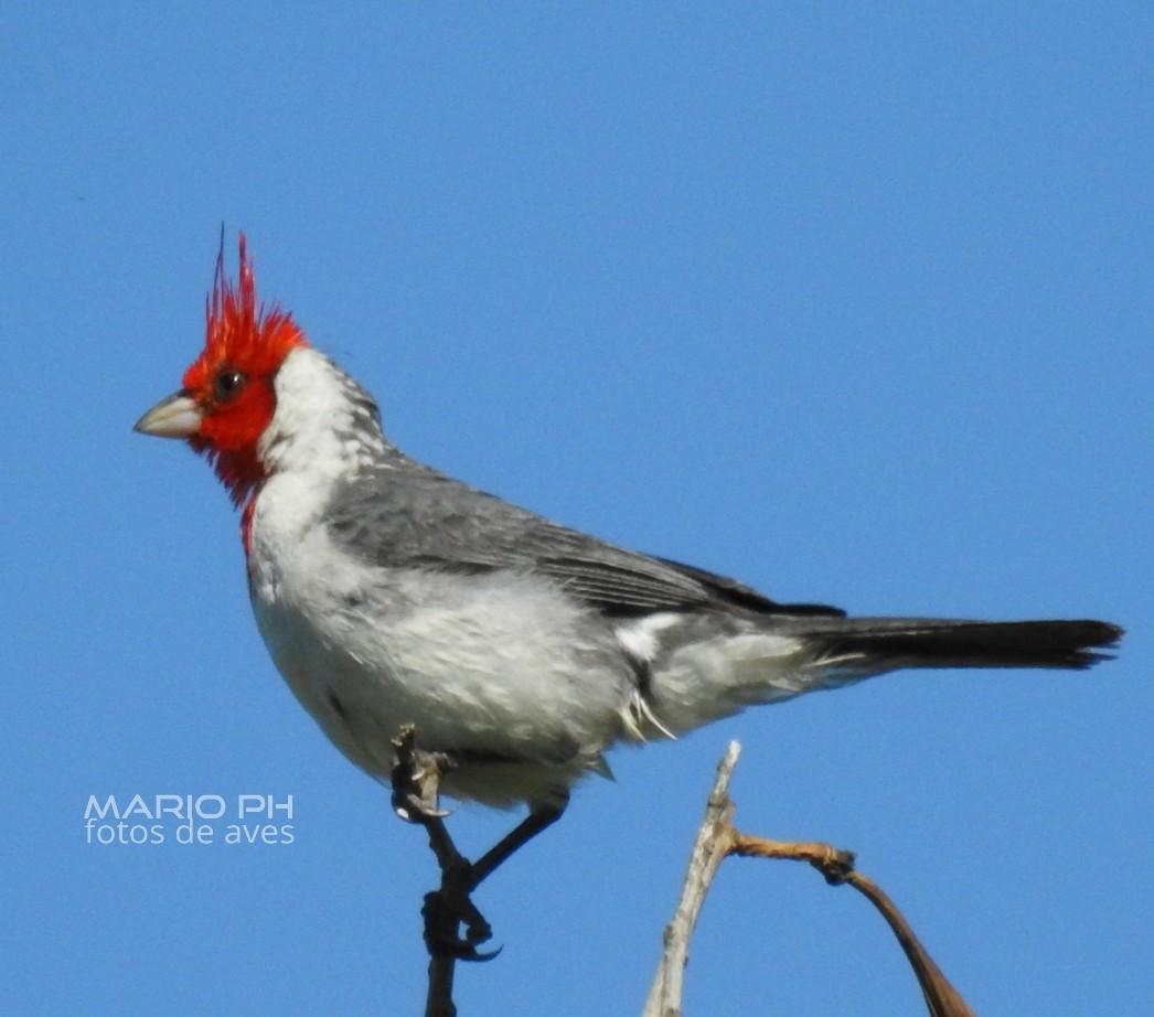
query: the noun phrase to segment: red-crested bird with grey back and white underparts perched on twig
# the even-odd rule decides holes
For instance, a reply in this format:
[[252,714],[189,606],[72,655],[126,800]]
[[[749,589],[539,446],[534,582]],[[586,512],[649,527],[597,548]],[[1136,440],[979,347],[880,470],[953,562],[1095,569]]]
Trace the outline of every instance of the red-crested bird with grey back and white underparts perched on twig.
[[778,603],[452,479],[258,302],[243,233],[235,279],[222,234],[202,351],[135,431],[186,441],[227,489],[257,628],[332,743],[383,782],[411,725],[443,793],[526,805],[527,836],[614,746],[898,668],[1086,668],[1123,635]]

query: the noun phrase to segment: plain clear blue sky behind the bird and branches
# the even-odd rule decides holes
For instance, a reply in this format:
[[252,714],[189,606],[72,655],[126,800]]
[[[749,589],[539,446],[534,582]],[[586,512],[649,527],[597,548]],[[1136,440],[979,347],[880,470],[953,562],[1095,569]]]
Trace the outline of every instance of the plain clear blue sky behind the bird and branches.
[[[983,1017],[1148,1004],[1148,5],[2,20],[0,1008],[420,1011],[420,831],[268,661],[209,470],[130,433],[222,222],[481,487],[781,599],[1131,630],[1088,674],[890,675],[617,753],[479,895],[504,952],[462,1014],[639,1010],[729,738],[739,824],[856,850]],[[291,794],[293,843],[87,843],[90,794],[137,793]],[[748,861],[687,1004],[921,1005],[863,900]]]

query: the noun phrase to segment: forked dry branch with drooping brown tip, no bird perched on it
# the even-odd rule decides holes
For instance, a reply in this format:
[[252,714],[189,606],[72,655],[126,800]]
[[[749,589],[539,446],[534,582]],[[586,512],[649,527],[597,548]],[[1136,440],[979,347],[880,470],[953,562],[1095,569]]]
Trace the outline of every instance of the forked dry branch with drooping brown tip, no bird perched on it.
[[733,827],[734,803],[729,798],[729,779],[741,746],[730,742],[718,777],[710,792],[705,818],[690,853],[689,869],[673,920],[666,927],[661,960],[645,1002],[643,1017],[681,1017],[684,967],[689,957],[689,940],[700,913],[713,876],[727,855],[742,858],[779,858],[805,861],[814,866],[831,885],[848,883],[874,904],[885,918],[905,951],[926,997],[930,1017],[974,1017],[958,990],[914,935],[909,923],[893,902],[871,880],[854,869],[854,855],[830,844],[812,842],[767,840],[742,833]]

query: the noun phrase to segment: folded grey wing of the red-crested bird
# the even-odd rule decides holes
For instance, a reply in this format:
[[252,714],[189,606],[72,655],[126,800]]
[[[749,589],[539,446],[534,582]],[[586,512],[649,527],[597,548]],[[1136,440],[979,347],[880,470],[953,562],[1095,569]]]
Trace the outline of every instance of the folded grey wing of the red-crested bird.
[[474,574],[527,569],[607,615],[695,608],[845,614],[777,604],[734,579],[616,547],[412,461],[361,474],[336,493],[327,517],[337,543],[377,564]]

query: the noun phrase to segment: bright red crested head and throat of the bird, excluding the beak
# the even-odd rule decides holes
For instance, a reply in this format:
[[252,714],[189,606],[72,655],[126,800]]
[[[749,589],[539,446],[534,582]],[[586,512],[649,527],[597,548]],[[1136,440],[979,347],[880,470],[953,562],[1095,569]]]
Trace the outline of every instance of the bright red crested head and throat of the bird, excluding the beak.
[[185,390],[203,412],[189,444],[208,456],[233,502],[241,504],[265,477],[257,442],[276,410],[277,369],[308,343],[292,315],[276,305],[257,305],[243,233],[235,284],[225,275],[222,238],[205,321],[204,350],[183,377]]

